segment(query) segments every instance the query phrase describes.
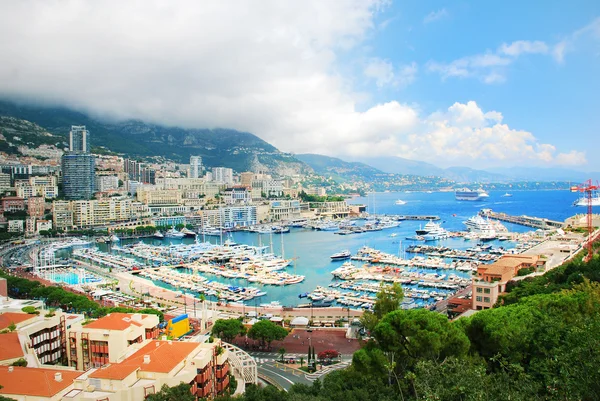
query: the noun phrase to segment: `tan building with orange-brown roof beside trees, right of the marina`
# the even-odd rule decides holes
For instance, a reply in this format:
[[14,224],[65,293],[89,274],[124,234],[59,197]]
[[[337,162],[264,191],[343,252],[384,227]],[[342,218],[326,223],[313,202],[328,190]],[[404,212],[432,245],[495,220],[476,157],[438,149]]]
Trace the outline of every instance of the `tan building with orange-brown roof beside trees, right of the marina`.
[[477,268],[477,278],[472,284],[473,309],[489,309],[498,301],[506,284],[523,268],[539,268],[545,261],[538,255],[505,255],[490,265]]

